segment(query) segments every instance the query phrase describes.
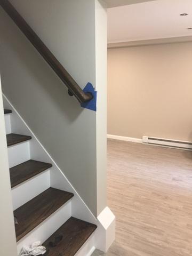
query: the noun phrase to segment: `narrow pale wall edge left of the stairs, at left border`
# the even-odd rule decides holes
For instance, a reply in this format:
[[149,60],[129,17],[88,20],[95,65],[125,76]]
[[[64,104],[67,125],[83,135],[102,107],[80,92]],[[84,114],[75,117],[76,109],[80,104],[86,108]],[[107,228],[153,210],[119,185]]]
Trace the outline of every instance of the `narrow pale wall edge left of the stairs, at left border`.
[[1,204],[1,235],[0,235],[0,255],[16,256],[17,245],[14,230],[13,207],[11,196],[11,184],[9,175],[9,163],[7,156],[5,121],[3,112],[3,100],[0,78],[0,204]]

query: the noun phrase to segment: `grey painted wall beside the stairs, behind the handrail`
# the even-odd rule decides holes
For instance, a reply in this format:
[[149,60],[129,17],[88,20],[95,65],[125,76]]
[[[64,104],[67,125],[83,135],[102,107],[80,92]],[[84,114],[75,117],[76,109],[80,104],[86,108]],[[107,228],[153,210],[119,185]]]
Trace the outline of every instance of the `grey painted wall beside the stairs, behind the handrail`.
[[[97,0],[58,0],[57,4],[52,0],[12,0],[11,3],[82,88],[90,82],[100,97],[106,97],[101,95],[102,88],[96,82],[95,22],[107,19],[106,15],[105,20],[95,19]],[[100,163],[103,189],[97,189],[100,145],[97,145],[96,123],[101,110],[96,114],[83,109],[69,97],[66,86],[5,12],[2,9],[0,12],[3,92],[96,216],[106,207],[106,194],[98,201],[99,193],[106,187],[105,159]],[[105,38],[101,44],[106,45]],[[106,54],[102,51],[100,54]],[[97,72],[101,72],[105,81],[107,72]],[[100,125],[105,131],[105,124],[100,122]]]

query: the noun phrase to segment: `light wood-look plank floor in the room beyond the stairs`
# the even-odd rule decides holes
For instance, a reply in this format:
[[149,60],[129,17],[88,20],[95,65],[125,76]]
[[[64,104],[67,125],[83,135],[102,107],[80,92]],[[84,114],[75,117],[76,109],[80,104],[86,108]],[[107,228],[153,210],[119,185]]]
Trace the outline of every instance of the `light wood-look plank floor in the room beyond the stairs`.
[[93,255],[192,255],[191,151],[108,140],[107,189],[116,241]]

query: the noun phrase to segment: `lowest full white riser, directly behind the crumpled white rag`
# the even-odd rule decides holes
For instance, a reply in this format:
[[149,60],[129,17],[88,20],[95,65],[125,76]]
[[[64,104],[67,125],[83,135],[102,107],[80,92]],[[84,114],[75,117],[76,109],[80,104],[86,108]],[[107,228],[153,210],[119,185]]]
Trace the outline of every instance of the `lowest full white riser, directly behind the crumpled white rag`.
[[35,241],[45,242],[58,228],[60,228],[71,217],[71,202],[68,201],[59,210],[54,212],[49,218],[44,220],[35,229],[31,230],[18,242],[18,253],[23,245],[30,245]]

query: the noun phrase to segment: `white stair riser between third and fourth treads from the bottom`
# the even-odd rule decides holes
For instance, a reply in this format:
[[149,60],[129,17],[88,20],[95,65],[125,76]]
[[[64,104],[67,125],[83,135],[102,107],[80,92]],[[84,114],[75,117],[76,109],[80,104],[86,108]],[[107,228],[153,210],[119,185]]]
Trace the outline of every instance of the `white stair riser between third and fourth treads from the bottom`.
[[26,162],[30,159],[29,141],[8,147],[9,167]]

